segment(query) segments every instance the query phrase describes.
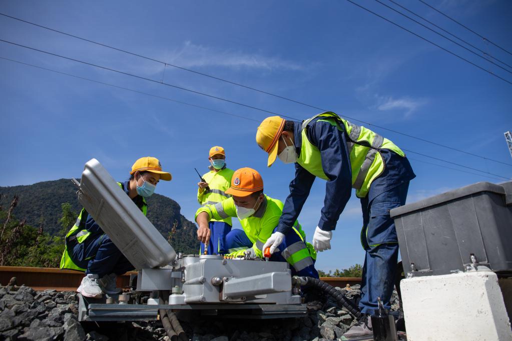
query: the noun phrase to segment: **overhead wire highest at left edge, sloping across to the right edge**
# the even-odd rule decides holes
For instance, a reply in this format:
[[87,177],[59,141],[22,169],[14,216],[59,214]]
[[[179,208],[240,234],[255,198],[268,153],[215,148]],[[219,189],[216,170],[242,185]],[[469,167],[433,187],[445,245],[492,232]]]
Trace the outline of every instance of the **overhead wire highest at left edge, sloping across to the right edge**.
[[[10,16],[10,15],[4,14],[4,13],[0,13],[0,15],[12,18],[14,20],[19,20],[19,21],[22,21],[22,22],[26,22],[27,24],[34,25],[34,26],[37,26],[37,27],[40,27],[40,28],[44,28],[44,29],[47,29],[47,30],[50,30],[50,31],[53,31],[53,32],[57,32],[57,33],[60,33],[60,34],[63,34],[63,35],[67,35],[67,36],[70,36],[70,37],[73,37],[73,38],[77,38],[77,39],[80,39],[80,40],[83,40],[83,41],[91,42],[91,43],[97,44],[97,45],[105,47],[105,48],[113,49],[113,50],[116,50],[116,51],[120,51],[120,52],[123,52],[123,53],[127,53],[127,54],[130,54],[130,55],[133,55],[133,56],[137,56],[137,57],[140,57],[140,58],[143,58],[143,59],[147,59],[147,60],[155,61],[155,62],[158,62],[158,63],[162,63],[162,64],[164,64],[164,67],[165,66],[176,67],[177,69],[180,69],[180,70],[188,71],[188,72],[195,73],[195,74],[198,74],[198,75],[201,75],[201,76],[204,76],[204,77],[209,77],[209,78],[216,79],[216,80],[219,80],[219,81],[222,81],[222,82],[226,82],[226,83],[229,83],[229,84],[232,84],[232,85],[240,86],[240,87],[243,87],[243,88],[246,88],[246,89],[253,90],[255,92],[259,92],[259,93],[262,93],[262,94],[265,94],[265,95],[269,95],[269,96],[273,96],[273,97],[276,97],[276,98],[280,98],[280,99],[283,99],[283,100],[286,100],[286,101],[289,101],[289,102],[293,102],[293,103],[296,103],[296,104],[301,104],[301,105],[304,105],[304,106],[307,106],[307,107],[310,107],[310,108],[313,108],[313,109],[317,109],[317,110],[321,110],[321,111],[329,111],[327,109],[320,108],[318,106],[307,104],[307,103],[304,103],[304,102],[301,102],[301,101],[297,101],[297,100],[294,100],[294,99],[291,99],[291,98],[287,98],[287,97],[284,97],[284,96],[272,94],[272,93],[266,92],[266,91],[258,89],[258,88],[254,88],[254,87],[251,87],[251,86],[247,86],[247,85],[243,85],[243,84],[240,84],[240,83],[232,82],[232,81],[220,78],[220,77],[208,75],[208,74],[201,73],[201,72],[198,72],[198,71],[195,71],[195,70],[186,69],[185,67],[174,65],[172,63],[168,63],[168,62],[165,62],[165,61],[161,61],[161,60],[157,60],[157,59],[154,59],[154,58],[146,57],[146,56],[143,56],[143,55],[140,55],[140,54],[136,54],[136,53],[129,52],[129,51],[126,51],[126,50],[122,50],[122,49],[119,49],[119,48],[115,48],[115,47],[112,47],[112,46],[109,46],[107,44],[103,44],[103,43],[100,43],[100,42],[97,42],[97,41],[94,41],[94,40],[78,37],[78,36],[73,35],[73,34],[62,32],[62,31],[59,31],[59,30],[55,30],[55,29],[52,29],[52,28],[49,28],[49,27],[46,27],[46,26],[38,25],[38,24],[35,24],[34,22],[30,22],[30,21],[27,21],[27,20],[16,18],[16,17]],[[284,115],[281,115],[281,116],[284,116]],[[364,123],[364,124],[366,124],[368,126],[373,126],[373,127],[376,127],[376,128],[382,129],[382,130],[390,131],[390,132],[393,132],[393,133],[396,133],[396,134],[399,134],[399,135],[402,135],[402,136],[405,136],[405,137],[408,137],[408,138],[411,138],[411,139],[415,139],[415,140],[422,141],[422,142],[425,142],[425,143],[429,143],[429,144],[432,144],[432,145],[436,145],[436,146],[439,146],[439,147],[443,147],[443,148],[447,148],[447,149],[450,149],[450,150],[454,150],[454,151],[457,151],[457,152],[460,152],[460,153],[464,153],[466,155],[472,155],[472,156],[475,156],[475,157],[479,157],[479,158],[482,158],[483,160],[492,161],[492,162],[496,162],[496,163],[507,165],[507,166],[512,166],[511,164],[507,164],[507,163],[504,163],[504,162],[501,162],[501,161],[498,161],[498,160],[494,160],[492,158],[488,158],[488,157],[485,157],[485,156],[482,156],[482,155],[470,153],[470,152],[467,152],[467,151],[464,151],[464,150],[461,150],[461,149],[457,149],[457,148],[453,148],[453,147],[450,147],[450,146],[447,146],[447,145],[444,145],[444,144],[441,144],[441,143],[437,143],[437,142],[434,142],[434,141],[430,141],[430,140],[426,140],[426,139],[423,139],[423,138],[419,138],[419,137],[411,135],[411,134],[407,134],[407,133],[400,132],[400,131],[397,131],[397,130],[394,130],[394,129],[386,128],[386,127],[383,127],[383,126],[380,126],[380,125],[377,125],[377,124],[373,124],[373,123],[370,123],[370,122],[361,121],[361,120],[358,120],[358,119],[350,117],[350,116],[344,115],[344,117],[346,117],[347,119],[350,119],[352,121],[355,121],[355,122]]]

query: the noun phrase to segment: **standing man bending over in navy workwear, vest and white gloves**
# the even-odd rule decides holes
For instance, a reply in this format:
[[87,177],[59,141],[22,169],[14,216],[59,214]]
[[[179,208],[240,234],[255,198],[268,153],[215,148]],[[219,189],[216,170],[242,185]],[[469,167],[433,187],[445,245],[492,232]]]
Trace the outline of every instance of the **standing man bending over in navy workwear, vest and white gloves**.
[[[393,142],[365,127],[356,126],[334,112],[304,122],[266,118],[256,142],[268,155],[268,167],[279,155],[295,163],[283,215],[276,233],[287,233],[304,206],[313,181],[327,181],[324,208],[313,236],[316,251],[331,248],[332,230],[350,198],[352,188],[361,200],[361,244],[366,251],[362,269],[361,318],[344,334],[347,338],[373,334],[368,314],[377,309],[377,297],[390,309],[398,257],[395,223],[389,211],[406,202],[414,174],[404,153]],[[280,240],[272,235],[274,245]]]

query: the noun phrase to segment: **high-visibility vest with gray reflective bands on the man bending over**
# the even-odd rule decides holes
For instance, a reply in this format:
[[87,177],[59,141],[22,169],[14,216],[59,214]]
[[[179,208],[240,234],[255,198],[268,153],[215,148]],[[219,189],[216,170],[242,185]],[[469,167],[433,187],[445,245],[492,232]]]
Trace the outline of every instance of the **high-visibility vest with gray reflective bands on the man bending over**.
[[403,151],[390,140],[381,137],[368,128],[352,124],[340,118],[334,112],[326,111],[302,123],[301,154],[297,158],[299,165],[319,178],[329,180],[322,167],[320,151],[308,140],[306,134],[307,125],[317,117],[321,117],[317,122],[328,122],[345,132],[352,169],[352,188],[356,190],[356,195],[359,198],[368,194],[373,180],[384,170],[385,163],[379,152],[381,149],[389,149],[400,156],[405,156]]

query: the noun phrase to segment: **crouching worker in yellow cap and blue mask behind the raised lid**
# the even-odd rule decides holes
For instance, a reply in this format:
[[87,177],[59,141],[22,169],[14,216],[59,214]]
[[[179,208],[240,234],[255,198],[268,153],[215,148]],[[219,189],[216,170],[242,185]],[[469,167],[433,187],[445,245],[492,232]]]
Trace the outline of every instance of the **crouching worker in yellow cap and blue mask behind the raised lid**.
[[[130,178],[117,183],[137,207],[146,215],[147,197],[155,191],[159,180],[169,181],[170,173],[163,172],[155,157],[141,157],[132,166]],[[116,294],[117,275],[134,269],[116,245],[82,209],[75,225],[66,235],[66,248],[60,260],[61,269],[86,272],[76,291],[86,297],[100,298],[103,293]]]

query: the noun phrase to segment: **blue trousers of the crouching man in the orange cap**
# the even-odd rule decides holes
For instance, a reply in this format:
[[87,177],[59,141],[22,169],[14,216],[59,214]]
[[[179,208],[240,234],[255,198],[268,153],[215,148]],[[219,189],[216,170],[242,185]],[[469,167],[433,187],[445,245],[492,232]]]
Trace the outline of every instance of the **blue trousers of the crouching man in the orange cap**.
[[[274,229],[273,232],[275,232],[277,228]],[[278,249],[279,251],[275,251],[272,256],[270,257],[270,260],[273,262],[286,262],[286,259],[281,255],[281,253],[286,249],[289,245],[295,244],[297,242],[304,241],[299,237],[295,231],[291,230],[285,235],[285,238],[281,245],[279,245]],[[244,230],[240,229],[234,229],[231,232],[229,232],[226,236],[226,248],[238,248],[238,247],[246,247],[251,248],[253,246],[253,243],[250,241],[249,237],[245,234]],[[263,246],[263,245],[262,245]],[[304,247],[306,247],[306,244],[304,244]],[[297,269],[295,269],[295,266],[290,265],[291,269],[291,276],[309,276],[314,278],[318,277],[318,272],[315,269],[314,263],[315,260],[310,257],[311,262],[309,264],[311,265],[301,265],[297,262],[295,266],[297,266]]]

